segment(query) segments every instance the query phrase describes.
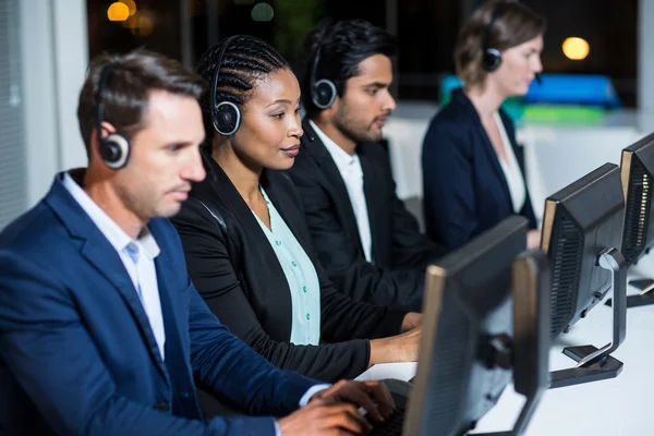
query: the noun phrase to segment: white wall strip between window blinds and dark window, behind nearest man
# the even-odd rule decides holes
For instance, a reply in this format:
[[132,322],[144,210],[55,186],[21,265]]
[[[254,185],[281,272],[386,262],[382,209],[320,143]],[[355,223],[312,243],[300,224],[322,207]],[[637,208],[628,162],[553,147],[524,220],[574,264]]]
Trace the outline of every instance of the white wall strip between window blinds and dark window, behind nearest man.
[[86,165],[75,116],[88,63],[86,1],[22,0],[20,15],[32,206],[58,171]]

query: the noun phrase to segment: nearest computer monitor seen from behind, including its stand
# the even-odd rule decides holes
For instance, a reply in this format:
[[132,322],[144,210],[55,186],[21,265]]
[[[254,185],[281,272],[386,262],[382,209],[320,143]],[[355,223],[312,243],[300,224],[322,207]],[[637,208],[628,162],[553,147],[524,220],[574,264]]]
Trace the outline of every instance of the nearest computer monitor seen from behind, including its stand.
[[[427,269],[416,376],[402,435],[467,435],[511,382],[524,432],[549,382],[549,274],[520,256],[528,222],[510,217]],[[513,316],[511,316],[513,308]]]

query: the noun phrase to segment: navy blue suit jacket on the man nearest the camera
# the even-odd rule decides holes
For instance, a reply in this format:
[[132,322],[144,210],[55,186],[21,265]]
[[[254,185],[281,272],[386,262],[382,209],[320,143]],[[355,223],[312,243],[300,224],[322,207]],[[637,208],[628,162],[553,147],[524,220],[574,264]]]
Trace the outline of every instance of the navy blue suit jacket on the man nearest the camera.
[[172,225],[153,219],[164,362],[119,254],[61,178],[0,233],[0,433],[274,435],[270,416],[205,422],[194,378],[275,416],[316,382],[231,335],[189,280]]

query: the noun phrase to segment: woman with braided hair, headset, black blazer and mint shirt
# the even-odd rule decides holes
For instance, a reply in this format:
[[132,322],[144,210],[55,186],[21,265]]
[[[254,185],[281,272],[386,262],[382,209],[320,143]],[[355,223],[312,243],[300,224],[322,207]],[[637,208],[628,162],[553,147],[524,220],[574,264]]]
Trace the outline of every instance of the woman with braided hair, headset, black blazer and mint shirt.
[[[316,258],[283,173],[303,134],[289,63],[241,35],[208,50],[197,72],[210,83],[201,101],[207,177],[172,221],[211,312],[275,365],[328,383],[415,361],[420,314],[350,300]],[[211,401],[201,398],[206,415]]]

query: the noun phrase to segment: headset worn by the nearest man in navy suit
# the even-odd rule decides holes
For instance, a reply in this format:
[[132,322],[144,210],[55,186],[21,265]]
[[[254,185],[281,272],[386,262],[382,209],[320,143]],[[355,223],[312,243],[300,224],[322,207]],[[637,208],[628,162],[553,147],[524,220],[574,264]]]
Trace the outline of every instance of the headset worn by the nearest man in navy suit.
[[102,93],[109,81],[109,76],[118,66],[120,62],[113,61],[107,64],[102,69],[100,74],[100,82],[98,83],[98,93],[96,95],[96,101],[98,106],[97,113],[97,135],[100,149],[100,156],[105,161],[105,165],[113,170],[123,168],[130,159],[130,140],[128,135],[121,132],[114,132],[107,137],[102,136],[102,117],[105,114],[105,105],[102,102]]

